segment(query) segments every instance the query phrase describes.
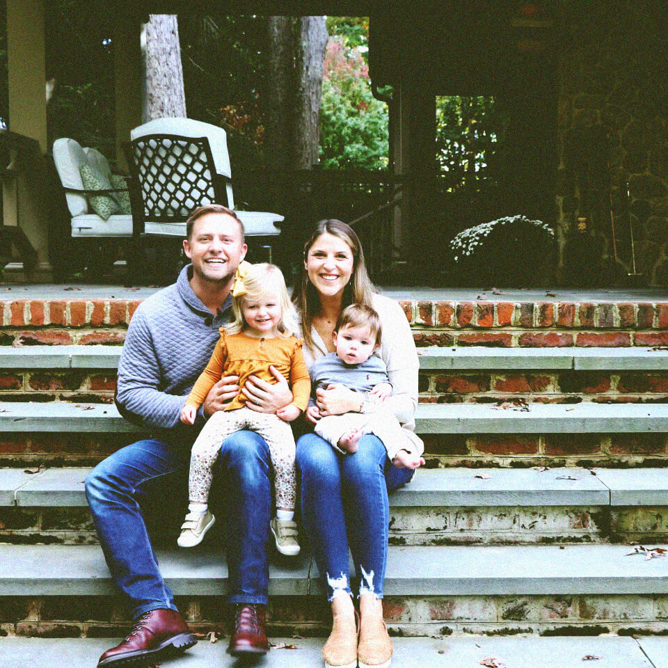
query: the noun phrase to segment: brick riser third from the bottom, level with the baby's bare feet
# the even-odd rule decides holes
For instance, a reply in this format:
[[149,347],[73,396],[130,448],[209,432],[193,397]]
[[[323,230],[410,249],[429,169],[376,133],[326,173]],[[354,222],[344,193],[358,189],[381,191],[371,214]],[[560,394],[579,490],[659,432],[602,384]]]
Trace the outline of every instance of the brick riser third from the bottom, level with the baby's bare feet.
[[[142,438],[130,434],[0,435],[0,466],[95,466]],[[422,434],[427,467],[667,467],[668,434]]]

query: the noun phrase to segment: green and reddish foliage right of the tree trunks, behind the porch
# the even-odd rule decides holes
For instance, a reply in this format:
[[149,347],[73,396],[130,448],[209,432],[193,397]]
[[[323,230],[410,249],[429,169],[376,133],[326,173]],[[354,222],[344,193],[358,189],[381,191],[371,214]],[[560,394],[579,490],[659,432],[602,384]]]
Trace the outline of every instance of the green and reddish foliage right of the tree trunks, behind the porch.
[[372,95],[359,49],[330,38],[324,63],[320,112],[320,161],[324,168],[388,166],[388,109]]

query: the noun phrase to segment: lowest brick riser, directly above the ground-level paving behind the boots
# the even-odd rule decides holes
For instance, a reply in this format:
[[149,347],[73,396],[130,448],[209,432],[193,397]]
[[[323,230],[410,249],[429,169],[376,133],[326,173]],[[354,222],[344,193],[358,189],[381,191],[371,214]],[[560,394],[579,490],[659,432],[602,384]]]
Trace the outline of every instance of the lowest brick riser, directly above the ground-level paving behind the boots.
[[[228,628],[220,596],[177,596],[193,630]],[[324,596],[269,599],[270,635],[319,635],[331,630]],[[129,630],[122,604],[111,596],[0,598],[0,635],[122,637]],[[392,635],[666,635],[668,596],[385,596]],[[299,641],[296,641],[299,642]]]

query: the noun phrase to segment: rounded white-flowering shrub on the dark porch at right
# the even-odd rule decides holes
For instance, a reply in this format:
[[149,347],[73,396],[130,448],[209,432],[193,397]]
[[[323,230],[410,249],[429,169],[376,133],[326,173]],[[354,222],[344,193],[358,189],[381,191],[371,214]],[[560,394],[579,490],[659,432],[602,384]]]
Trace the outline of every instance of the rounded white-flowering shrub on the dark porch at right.
[[536,285],[555,260],[557,242],[547,223],[507,216],[459,232],[449,250],[459,283]]

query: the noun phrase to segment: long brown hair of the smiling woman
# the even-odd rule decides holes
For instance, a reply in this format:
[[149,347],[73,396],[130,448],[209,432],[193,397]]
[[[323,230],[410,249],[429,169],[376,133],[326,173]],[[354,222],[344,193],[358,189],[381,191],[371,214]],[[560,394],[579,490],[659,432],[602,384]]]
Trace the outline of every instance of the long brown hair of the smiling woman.
[[[372,306],[372,294],[376,292],[374,284],[369,280],[367,267],[364,262],[362,244],[357,234],[346,223],[337,221],[335,218],[320,221],[315,231],[304,245],[304,260],[308,257],[311,246],[323,235],[332,234],[334,237],[343,239],[353,253],[353,273],[348,285],[344,288],[341,308],[342,310],[351,304],[364,304]],[[313,337],[311,336],[311,322],[313,316],[320,310],[320,296],[317,289],[308,280],[308,272],[302,264],[301,279],[298,280],[292,292],[292,302],[299,311],[301,322],[301,335],[304,343],[313,350]]]

